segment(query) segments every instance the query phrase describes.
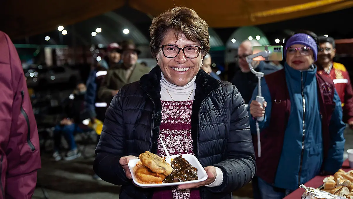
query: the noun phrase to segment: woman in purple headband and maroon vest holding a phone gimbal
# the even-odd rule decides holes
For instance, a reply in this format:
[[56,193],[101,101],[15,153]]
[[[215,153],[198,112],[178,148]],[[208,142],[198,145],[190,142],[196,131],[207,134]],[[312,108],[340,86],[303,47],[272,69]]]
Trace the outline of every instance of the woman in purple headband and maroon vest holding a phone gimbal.
[[[285,43],[284,69],[262,79],[264,106],[255,101],[257,88],[253,92],[256,198],[281,199],[316,175],[334,174],[342,166],[346,126],[341,101],[333,81],[317,74],[317,52],[315,34],[294,34]],[[258,140],[255,122],[260,116]]]

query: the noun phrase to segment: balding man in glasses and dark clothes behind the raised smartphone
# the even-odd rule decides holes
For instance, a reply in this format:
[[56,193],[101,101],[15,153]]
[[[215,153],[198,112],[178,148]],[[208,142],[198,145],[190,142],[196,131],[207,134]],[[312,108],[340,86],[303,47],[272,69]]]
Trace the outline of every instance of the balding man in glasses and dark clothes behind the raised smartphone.
[[[245,59],[246,56],[252,55],[252,47],[254,46],[261,45],[254,40],[245,40],[240,44],[238,48],[238,56],[235,57],[235,60],[239,63],[240,70],[235,73],[231,81],[231,83],[239,90],[245,104],[249,103],[252,92],[257,85],[257,77],[250,72],[249,64]],[[264,61],[253,61],[252,64],[257,72],[262,72],[265,75],[278,70],[275,66],[267,64]]]

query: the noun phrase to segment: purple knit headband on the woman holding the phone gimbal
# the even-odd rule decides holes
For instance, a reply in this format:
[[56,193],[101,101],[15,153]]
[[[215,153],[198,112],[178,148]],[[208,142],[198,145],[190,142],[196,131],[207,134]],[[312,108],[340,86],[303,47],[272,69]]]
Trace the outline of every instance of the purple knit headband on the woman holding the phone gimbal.
[[310,49],[312,50],[312,52],[314,54],[314,59],[316,62],[316,60],[317,60],[317,44],[311,36],[304,34],[304,33],[298,33],[298,34],[291,36],[288,39],[288,41],[286,42],[286,46],[285,46],[285,49],[283,52],[285,57],[286,57],[286,53],[287,53],[286,48],[289,48],[294,44],[301,44],[301,45],[305,45],[307,47],[310,47]]

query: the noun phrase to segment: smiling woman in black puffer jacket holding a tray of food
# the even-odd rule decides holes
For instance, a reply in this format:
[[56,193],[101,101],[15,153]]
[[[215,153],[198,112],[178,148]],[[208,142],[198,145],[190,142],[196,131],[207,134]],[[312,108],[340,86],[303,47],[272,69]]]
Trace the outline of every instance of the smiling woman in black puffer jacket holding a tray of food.
[[[153,19],[150,35],[157,66],[110,103],[95,172],[122,185],[122,199],[231,199],[254,176],[255,155],[237,88],[200,69],[210,49],[207,23],[176,7]],[[145,151],[166,156],[161,140],[170,155],[195,155],[207,179],[145,191],[134,186],[128,161]]]

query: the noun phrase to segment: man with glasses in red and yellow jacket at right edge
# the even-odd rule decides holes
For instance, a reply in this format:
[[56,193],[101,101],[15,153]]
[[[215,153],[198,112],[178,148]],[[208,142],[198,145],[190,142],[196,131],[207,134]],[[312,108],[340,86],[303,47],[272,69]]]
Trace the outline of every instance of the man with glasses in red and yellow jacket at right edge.
[[319,36],[318,40],[317,72],[333,80],[342,102],[343,121],[353,129],[353,89],[349,74],[343,64],[333,62],[336,55],[335,40],[325,36]]

